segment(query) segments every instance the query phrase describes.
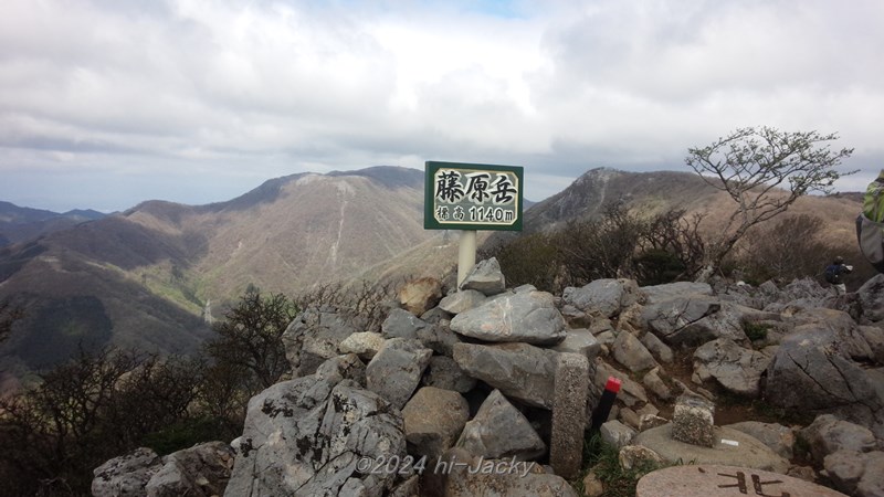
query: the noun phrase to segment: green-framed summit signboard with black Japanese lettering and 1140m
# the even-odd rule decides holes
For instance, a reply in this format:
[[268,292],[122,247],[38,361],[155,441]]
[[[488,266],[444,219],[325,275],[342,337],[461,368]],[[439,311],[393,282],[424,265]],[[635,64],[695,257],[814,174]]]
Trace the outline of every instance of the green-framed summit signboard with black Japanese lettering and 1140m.
[[423,228],[522,231],[523,169],[427,162]]

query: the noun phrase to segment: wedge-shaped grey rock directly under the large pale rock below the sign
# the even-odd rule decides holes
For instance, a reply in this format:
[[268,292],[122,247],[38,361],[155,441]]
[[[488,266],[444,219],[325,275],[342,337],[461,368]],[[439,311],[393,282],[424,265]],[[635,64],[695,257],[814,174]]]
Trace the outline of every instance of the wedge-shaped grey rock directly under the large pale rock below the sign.
[[528,343],[457,343],[454,360],[508,398],[552,409],[558,352]]

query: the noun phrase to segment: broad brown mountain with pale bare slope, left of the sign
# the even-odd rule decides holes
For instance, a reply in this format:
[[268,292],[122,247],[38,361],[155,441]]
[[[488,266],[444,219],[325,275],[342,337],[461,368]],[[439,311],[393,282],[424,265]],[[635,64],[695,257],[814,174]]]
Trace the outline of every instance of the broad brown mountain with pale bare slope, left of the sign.
[[293,175],[208,205],[144,202],[0,248],[0,299],[29,310],[0,352],[34,369],[84,343],[193,351],[203,313],[221,317],[250,285],[293,295],[349,279],[434,234],[423,171],[394,167]]

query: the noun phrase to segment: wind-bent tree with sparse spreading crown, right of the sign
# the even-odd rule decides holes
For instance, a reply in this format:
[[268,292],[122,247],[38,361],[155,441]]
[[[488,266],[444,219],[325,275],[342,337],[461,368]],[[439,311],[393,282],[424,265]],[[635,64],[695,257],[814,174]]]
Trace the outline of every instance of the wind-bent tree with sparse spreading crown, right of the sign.
[[697,281],[712,276],[751,226],[785,212],[799,197],[831,192],[839,178],[855,172],[835,170],[853,154],[852,148],[832,150],[829,142],[836,139],[835,134],[765,126],[737,129],[707,147],[687,150],[687,166],[737,204],[707,244]]

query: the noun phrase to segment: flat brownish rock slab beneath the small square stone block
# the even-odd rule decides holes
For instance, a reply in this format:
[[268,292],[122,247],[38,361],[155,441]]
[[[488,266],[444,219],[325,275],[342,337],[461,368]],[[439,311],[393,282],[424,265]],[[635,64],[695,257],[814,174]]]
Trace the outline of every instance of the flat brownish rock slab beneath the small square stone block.
[[[789,461],[743,432],[716,426],[713,438],[715,445],[712,447],[678,442],[672,437],[670,423],[639,433],[632,444],[651,448],[669,463],[690,461],[692,464],[741,466],[780,474],[789,469]],[[722,443],[723,440],[727,443]]]

